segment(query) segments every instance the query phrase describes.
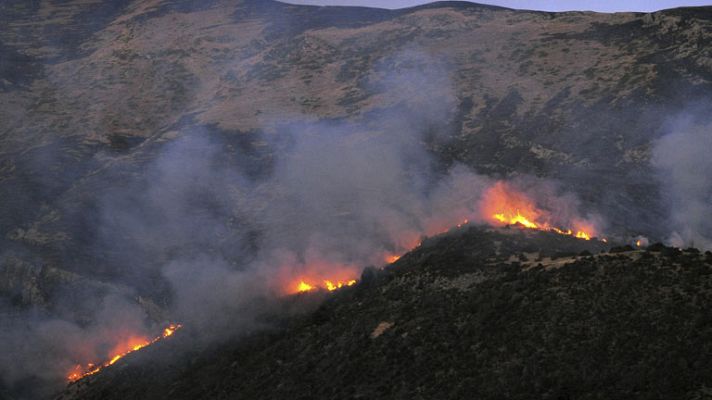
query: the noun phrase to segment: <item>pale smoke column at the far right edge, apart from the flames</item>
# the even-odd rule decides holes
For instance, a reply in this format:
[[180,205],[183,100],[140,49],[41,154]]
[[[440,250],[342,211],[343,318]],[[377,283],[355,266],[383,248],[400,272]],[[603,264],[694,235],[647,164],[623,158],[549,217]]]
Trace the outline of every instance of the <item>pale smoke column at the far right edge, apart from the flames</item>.
[[653,151],[674,246],[712,249],[712,125],[678,120]]

